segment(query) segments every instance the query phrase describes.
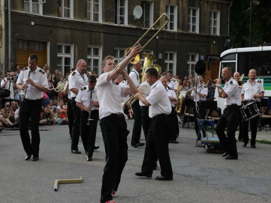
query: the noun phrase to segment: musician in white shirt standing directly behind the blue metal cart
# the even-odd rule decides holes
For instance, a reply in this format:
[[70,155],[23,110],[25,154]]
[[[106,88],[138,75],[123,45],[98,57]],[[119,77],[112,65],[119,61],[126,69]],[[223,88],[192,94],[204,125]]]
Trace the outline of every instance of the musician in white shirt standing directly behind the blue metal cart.
[[[194,100],[193,114],[194,114],[194,119],[195,119],[195,130],[198,136],[198,140],[201,140],[202,135],[199,132],[200,129],[198,125],[198,120],[206,118],[206,96],[208,94],[208,88],[204,85],[203,76],[200,75],[198,76],[198,78],[199,78],[198,81],[200,85],[198,85],[197,88],[193,87],[192,93],[190,94],[190,92],[188,92],[187,95],[191,100]],[[196,107],[196,105],[198,108]],[[203,129],[203,136],[205,136],[204,129]]]

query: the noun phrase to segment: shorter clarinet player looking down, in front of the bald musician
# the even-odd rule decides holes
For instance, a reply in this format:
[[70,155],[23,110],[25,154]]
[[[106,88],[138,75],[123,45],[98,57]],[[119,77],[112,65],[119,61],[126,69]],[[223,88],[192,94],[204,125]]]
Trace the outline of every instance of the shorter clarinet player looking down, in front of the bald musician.
[[80,135],[88,162],[92,161],[93,151],[96,149],[95,140],[99,119],[99,102],[95,86],[96,77],[90,75],[88,85],[82,87],[75,98],[76,106],[82,110],[80,114]]

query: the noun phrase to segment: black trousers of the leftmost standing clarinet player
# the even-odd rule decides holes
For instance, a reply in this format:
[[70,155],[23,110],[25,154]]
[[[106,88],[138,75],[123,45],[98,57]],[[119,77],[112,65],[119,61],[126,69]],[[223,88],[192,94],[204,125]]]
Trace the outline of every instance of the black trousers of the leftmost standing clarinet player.
[[[20,136],[25,152],[38,157],[39,153],[39,120],[41,112],[40,100],[25,100],[21,102],[19,111]],[[29,119],[31,119],[31,139],[28,131]]]

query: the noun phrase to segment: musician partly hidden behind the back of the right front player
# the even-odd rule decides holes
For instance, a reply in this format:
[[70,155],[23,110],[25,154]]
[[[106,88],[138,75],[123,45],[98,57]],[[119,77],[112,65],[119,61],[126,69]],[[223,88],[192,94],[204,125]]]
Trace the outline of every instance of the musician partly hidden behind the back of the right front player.
[[174,105],[174,102],[177,102],[177,96],[176,96],[175,92],[169,88],[168,80],[167,80],[166,76],[162,76],[160,78],[160,81],[162,82],[162,84],[164,85],[164,87],[166,89],[167,95],[169,97],[170,105],[171,105],[171,112],[168,116],[169,123],[171,124],[171,127],[169,128],[169,143],[177,144],[177,143],[179,143],[176,140],[176,138],[177,138],[176,131],[177,131],[178,127],[176,127],[176,125],[175,125],[176,124],[175,119],[176,119],[177,115],[175,112],[175,105]]

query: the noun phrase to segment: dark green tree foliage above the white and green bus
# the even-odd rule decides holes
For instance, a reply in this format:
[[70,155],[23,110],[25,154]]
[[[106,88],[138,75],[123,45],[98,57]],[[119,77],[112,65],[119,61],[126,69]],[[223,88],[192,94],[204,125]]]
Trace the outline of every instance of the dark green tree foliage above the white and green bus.
[[[249,46],[250,11],[251,46],[271,43],[271,0],[259,0],[259,5],[251,0],[233,0],[230,10],[230,38],[232,47]],[[252,9],[252,10],[250,10]]]

